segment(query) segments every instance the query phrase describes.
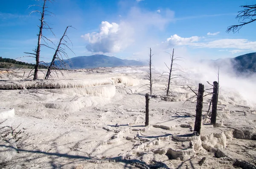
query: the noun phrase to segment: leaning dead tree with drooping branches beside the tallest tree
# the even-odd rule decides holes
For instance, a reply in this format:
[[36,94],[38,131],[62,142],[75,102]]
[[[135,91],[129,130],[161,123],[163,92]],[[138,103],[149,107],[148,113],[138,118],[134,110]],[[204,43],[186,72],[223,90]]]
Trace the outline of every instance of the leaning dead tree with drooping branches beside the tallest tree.
[[[68,57],[67,53],[65,52],[65,48],[62,48],[61,46],[64,46],[64,47],[67,47],[68,49],[70,49],[66,45],[67,41],[64,39],[64,37],[67,37],[67,29],[69,27],[72,27],[72,26],[67,26],[66,30],[64,31],[64,34],[63,34],[63,36],[61,37],[61,39],[60,39],[60,41],[58,43],[58,47],[55,50],[55,54],[52,57],[52,62],[51,62],[51,64],[47,68],[47,73],[46,73],[46,76],[44,78],[46,80],[49,78],[50,73],[51,73],[52,70],[59,70],[60,67],[61,68],[67,68],[67,63],[64,62],[64,59],[63,59],[62,55],[66,56],[67,59],[69,59],[69,57]],[[69,39],[69,38],[67,37],[67,39]],[[63,41],[64,41],[64,43],[63,43]],[[72,51],[72,50],[70,49],[70,51]],[[58,61],[58,65],[55,64],[56,60]]]

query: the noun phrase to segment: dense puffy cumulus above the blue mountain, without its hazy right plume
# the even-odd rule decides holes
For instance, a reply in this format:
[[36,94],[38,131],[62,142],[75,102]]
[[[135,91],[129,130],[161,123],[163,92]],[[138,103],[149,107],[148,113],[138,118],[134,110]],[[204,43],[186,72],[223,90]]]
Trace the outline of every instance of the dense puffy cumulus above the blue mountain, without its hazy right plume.
[[84,34],[81,37],[89,42],[86,45],[88,51],[103,52],[103,53],[116,53],[126,48],[133,39],[132,28],[126,23],[108,23],[103,21],[99,25],[98,32]]

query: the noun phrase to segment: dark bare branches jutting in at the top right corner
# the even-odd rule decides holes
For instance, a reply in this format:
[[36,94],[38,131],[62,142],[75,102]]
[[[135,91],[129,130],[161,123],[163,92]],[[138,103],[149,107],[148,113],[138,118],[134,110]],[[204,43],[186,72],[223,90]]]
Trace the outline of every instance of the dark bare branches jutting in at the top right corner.
[[240,7],[244,8],[244,10],[238,12],[239,14],[236,16],[236,19],[238,19],[241,24],[229,26],[227,28],[227,33],[230,31],[236,33],[244,25],[256,21],[256,5],[245,5]]

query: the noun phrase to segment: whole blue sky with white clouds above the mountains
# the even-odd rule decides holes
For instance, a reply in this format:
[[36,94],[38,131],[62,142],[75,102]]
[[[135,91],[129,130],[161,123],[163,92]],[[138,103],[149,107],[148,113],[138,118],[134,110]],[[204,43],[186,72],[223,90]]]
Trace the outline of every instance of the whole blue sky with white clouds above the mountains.
[[[0,56],[18,58],[37,44],[42,0],[3,0],[0,6]],[[121,59],[147,59],[148,48],[155,57],[175,48],[176,54],[191,59],[236,57],[256,51],[256,23],[239,33],[226,33],[238,24],[241,5],[253,0],[55,0],[47,3],[55,16],[46,16],[55,36],[43,34],[55,44],[65,28],[73,45],[69,57],[105,54]],[[54,47],[52,45],[52,47]],[[43,47],[41,60],[49,62],[54,51]],[[34,62],[33,58],[21,58]]]

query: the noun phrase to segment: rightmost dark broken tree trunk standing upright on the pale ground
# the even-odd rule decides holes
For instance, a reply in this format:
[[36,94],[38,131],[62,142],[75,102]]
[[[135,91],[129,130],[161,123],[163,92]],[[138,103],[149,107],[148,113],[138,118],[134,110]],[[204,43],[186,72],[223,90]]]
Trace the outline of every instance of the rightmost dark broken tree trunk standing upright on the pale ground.
[[218,105],[218,82],[213,82],[213,96],[212,96],[212,116],[211,124],[215,126],[217,118],[217,105]]

